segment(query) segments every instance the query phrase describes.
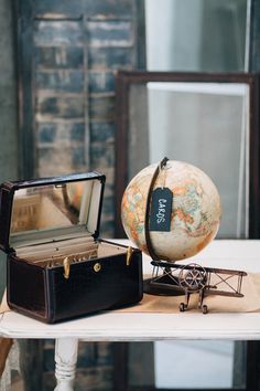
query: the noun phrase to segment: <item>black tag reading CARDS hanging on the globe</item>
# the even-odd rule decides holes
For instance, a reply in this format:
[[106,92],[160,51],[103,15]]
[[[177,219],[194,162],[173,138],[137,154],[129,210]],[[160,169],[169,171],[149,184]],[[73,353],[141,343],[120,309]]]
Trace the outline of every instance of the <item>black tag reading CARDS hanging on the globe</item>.
[[158,188],[152,192],[150,231],[170,231],[173,193],[169,188]]

